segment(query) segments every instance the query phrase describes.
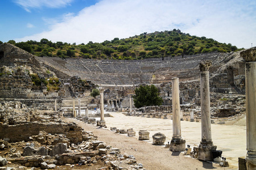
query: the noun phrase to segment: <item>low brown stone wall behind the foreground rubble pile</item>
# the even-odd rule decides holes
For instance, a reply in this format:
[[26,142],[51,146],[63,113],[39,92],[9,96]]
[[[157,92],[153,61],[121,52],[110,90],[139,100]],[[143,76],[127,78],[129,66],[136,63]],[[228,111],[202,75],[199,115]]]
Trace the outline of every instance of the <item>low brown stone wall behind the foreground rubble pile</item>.
[[32,135],[39,131],[51,134],[65,134],[71,143],[82,142],[82,128],[75,123],[36,123],[27,122],[20,125],[1,125],[0,139],[9,142],[30,141]]

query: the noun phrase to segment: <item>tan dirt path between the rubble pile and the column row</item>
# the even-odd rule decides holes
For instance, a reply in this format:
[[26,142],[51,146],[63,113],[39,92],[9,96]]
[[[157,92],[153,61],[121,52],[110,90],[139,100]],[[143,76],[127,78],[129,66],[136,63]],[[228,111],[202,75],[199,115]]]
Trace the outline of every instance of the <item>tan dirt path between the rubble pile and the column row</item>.
[[115,134],[113,131],[99,129],[97,126],[85,124],[74,118],[64,118],[64,121],[76,122],[85,131],[93,131],[98,136],[99,141],[104,141],[107,145],[117,147],[121,150],[121,154],[125,152],[134,155],[138,163],[142,163],[144,168],[149,170],[155,169],[232,169],[232,167],[219,167],[218,164],[201,162],[171,152],[162,146],[154,146],[151,143],[138,141],[137,138],[126,137],[126,135]]

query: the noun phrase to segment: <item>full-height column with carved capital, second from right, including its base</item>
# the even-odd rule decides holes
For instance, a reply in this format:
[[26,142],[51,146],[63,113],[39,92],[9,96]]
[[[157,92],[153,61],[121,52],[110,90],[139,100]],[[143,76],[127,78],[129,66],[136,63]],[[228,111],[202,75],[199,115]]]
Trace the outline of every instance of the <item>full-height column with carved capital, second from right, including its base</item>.
[[210,128],[210,87],[209,67],[210,61],[202,61],[200,67],[200,95],[201,95],[201,142],[199,145],[199,160],[212,160],[212,150],[217,146],[212,142],[212,130]]

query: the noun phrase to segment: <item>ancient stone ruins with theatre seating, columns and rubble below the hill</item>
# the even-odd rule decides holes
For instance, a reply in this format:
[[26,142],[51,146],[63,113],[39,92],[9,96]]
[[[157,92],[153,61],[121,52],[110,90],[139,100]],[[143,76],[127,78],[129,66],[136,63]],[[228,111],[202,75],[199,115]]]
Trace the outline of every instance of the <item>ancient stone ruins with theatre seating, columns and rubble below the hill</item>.
[[[147,129],[110,130],[139,141],[165,146],[203,161],[221,159],[211,124],[225,124],[246,115],[245,158],[239,168],[256,167],[256,48],[231,53],[112,61],[37,57],[14,45],[0,45],[0,168],[53,169],[75,166],[98,169],[144,169],[133,155],[98,141],[92,131],[68,118],[107,129],[106,117],[167,119],[172,138]],[[135,108],[135,88],[154,84],[163,99],[159,106]],[[94,88],[100,95],[90,96]],[[200,122],[201,141],[186,147],[181,121]],[[124,125],[125,127],[125,125]],[[160,147],[159,146],[159,147]],[[213,154],[214,153],[214,154]],[[220,155],[216,155],[220,154]],[[221,151],[222,153],[222,151]],[[18,166],[17,166],[18,165]]]

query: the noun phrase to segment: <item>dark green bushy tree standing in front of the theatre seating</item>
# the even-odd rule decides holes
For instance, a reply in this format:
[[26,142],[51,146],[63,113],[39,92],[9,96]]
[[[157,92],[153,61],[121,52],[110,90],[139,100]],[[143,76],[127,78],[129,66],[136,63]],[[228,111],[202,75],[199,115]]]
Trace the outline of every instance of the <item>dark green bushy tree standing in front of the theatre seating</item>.
[[159,96],[158,88],[154,85],[139,86],[133,96],[134,105],[137,108],[150,105],[162,105],[163,99]]

